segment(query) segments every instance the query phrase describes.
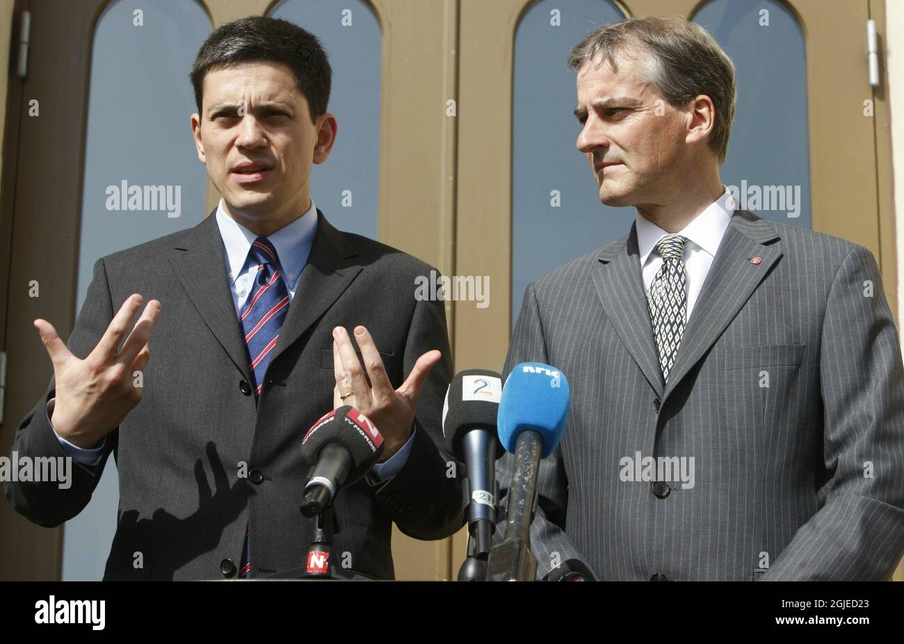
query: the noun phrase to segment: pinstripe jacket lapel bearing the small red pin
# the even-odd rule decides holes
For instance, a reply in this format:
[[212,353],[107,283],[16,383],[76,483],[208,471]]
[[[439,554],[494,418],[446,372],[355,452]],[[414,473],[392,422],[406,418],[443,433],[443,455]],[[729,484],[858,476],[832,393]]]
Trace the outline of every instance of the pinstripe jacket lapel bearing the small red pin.
[[[748,211],[735,211],[684,328],[663,403],[781,258],[780,246],[768,245],[777,239],[780,236],[774,223]],[[757,257],[758,263],[751,261]]]

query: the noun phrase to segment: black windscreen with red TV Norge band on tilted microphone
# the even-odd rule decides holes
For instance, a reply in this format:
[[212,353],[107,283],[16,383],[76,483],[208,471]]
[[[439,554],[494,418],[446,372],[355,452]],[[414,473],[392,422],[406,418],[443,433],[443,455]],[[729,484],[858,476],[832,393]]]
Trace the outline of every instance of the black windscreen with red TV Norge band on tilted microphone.
[[351,405],[334,409],[314,423],[301,440],[302,459],[308,465],[314,465],[320,450],[328,443],[338,443],[352,454],[353,466],[345,478],[345,485],[362,478],[383,453],[380,431]]

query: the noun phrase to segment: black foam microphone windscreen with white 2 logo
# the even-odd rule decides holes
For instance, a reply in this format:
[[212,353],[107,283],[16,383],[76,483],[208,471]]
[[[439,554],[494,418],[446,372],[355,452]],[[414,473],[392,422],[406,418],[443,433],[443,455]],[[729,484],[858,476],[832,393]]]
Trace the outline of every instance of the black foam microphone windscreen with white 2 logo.
[[[443,403],[443,436],[458,460],[465,459],[462,440],[471,430],[489,430],[496,434],[496,416],[503,392],[500,374],[487,369],[466,369],[458,372],[449,383]],[[496,442],[494,458],[505,453]]]

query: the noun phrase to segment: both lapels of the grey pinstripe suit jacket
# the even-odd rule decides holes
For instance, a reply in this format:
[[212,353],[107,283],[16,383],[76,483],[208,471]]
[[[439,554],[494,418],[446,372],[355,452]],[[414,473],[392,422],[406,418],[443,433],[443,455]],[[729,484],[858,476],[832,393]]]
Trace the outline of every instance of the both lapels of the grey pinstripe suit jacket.
[[[625,240],[599,252],[593,281],[600,301],[628,353],[663,403],[782,256],[777,246],[767,245],[776,239],[779,235],[774,223],[747,211],[736,211],[731,217],[684,328],[668,384],[664,384],[656,351],[635,224],[631,224]],[[755,257],[760,258],[757,264],[750,261]]]

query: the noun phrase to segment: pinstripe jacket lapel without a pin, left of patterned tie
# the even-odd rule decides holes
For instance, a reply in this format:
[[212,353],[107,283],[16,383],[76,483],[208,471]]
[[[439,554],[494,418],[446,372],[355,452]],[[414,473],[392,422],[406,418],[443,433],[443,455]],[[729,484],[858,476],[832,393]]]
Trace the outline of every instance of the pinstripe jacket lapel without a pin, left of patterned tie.
[[663,372],[646,305],[635,224],[631,224],[626,240],[608,245],[600,251],[597,260],[593,282],[606,315],[650,386],[661,396]]

